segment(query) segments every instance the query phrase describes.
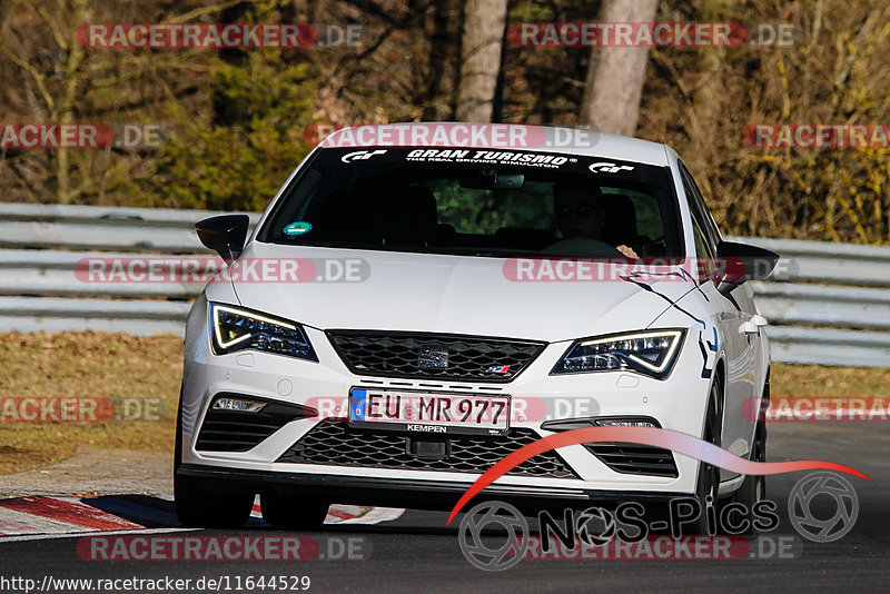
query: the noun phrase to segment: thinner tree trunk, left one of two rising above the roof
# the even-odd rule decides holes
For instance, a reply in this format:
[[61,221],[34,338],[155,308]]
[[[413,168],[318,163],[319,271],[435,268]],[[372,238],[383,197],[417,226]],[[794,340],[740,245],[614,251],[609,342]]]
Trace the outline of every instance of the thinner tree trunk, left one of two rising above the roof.
[[466,2],[457,90],[457,119],[461,121],[492,119],[506,17],[506,0]]

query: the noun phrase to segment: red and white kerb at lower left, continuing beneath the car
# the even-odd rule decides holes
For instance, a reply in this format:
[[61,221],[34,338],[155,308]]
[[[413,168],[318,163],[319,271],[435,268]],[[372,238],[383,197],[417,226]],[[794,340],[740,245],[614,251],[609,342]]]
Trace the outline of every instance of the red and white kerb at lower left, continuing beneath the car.
[[[325,524],[378,524],[398,518],[404,509],[332,505]],[[259,498],[247,527],[261,526]],[[172,497],[117,495],[89,497],[19,497],[0,501],[0,542],[21,537],[63,536],[92,532],[178,532]]]

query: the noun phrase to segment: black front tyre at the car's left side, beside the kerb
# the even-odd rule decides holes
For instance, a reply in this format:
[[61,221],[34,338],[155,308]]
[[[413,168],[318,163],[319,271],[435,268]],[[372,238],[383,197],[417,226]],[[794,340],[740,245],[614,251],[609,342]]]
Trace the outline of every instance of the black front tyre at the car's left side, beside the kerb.
[[179,523],[188,528],[240,528],[254,508],[253,493],[208,493],[195,479],[179,475],[182,464],[182,392],[176,414],[174,499]]

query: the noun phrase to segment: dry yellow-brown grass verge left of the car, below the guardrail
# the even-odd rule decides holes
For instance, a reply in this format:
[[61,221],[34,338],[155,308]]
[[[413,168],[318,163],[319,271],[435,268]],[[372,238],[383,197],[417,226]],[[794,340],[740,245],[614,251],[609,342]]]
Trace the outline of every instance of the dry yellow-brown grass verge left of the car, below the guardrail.
[[[0,474],[57,462],[79,446],[171,451],[181,378],[178,336],[0,333]],[[119,418],[67,422],[56,406],[58,422],[16,420],[53,416],[24,406],[24,397],[110,400]],[[108,416],[105,408],[92,416]]]

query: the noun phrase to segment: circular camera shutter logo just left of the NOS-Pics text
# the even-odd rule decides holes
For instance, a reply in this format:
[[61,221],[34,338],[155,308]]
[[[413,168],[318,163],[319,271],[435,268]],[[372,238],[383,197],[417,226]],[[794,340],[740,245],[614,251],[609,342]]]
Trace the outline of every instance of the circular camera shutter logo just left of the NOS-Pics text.
[[[483,542],[482,532],[497,529],[486,536],[500,546],[491,548]],[[506,532],[506,538],[504,538]],[[474,567],[501,572],[522,561],[528,546],[528,523],[518,509],[503,502],[484,502],[466,513],[458,532],[461,551]]]

